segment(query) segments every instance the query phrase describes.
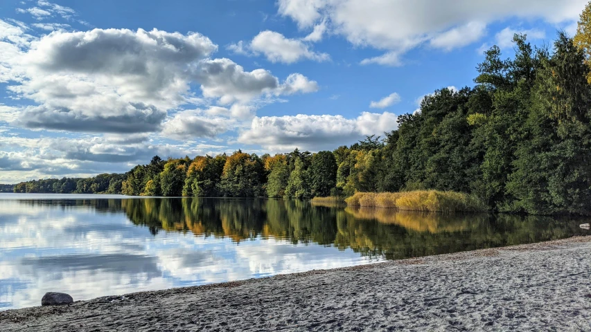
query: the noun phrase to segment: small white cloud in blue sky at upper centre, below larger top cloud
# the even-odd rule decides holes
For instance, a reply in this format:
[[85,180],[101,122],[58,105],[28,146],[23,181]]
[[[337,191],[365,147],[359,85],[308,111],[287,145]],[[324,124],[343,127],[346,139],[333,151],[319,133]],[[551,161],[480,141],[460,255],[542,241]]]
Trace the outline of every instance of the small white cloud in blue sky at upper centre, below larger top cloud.
[[[318,41],[324,32],[321,28],[312,32],[308,39]],[[326,53],[317,53],[310,50],[310,46],[299,39],[290,39],[274,31],[265,30],[258,33],[247,46],[242,41],[238,44],[232,44],[229,50],[239,54],[262,54],[270,62],[282,62],[284,64],[293,64],[301,59],[310,59],[317,62],[323,62],[330,59]]]

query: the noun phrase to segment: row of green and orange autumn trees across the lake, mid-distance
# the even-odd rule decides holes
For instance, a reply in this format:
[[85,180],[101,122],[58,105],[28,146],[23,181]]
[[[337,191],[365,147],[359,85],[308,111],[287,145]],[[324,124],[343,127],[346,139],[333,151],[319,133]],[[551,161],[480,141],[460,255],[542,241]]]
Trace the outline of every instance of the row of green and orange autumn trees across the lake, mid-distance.
[[123,181],[131,196],[287,197],[327,196],[336,188],[337,160],[330,151],[317,154],[295,149],[289,154],[197,156],[162,160],[134,167]]

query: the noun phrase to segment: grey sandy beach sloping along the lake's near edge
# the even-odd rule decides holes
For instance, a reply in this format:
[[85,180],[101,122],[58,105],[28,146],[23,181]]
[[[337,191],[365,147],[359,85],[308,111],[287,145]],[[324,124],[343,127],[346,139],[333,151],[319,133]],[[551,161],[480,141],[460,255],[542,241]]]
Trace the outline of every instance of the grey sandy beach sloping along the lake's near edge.
[[0,330],[591,331],[591,237],[1,311]]

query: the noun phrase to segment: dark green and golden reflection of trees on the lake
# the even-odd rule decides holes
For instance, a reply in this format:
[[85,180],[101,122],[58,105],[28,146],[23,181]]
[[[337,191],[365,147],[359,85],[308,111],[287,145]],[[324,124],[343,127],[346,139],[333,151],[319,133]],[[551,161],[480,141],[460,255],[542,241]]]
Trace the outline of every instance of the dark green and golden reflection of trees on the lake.
[[581,219],[510,214],[435,214],[392,209],[328,208],[285,199],[96,199],[21,201],[64,208],[91,206],[120,212],[152,234],[192,232],[197,237],[281,239],[351,248],[369,257],[403,259],[511,246],[583,234]]

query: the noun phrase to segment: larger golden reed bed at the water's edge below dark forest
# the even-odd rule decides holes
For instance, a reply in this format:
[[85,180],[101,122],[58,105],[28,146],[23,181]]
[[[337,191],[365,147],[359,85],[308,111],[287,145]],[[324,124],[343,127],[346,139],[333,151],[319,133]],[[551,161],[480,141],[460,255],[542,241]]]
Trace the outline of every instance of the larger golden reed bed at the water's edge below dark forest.
[[460,192],[417,190],[375,194],[358,192],[345,199],[348,205],[376,208],[397,208],[423,212],[482,212],[486,207],[475,196]]

